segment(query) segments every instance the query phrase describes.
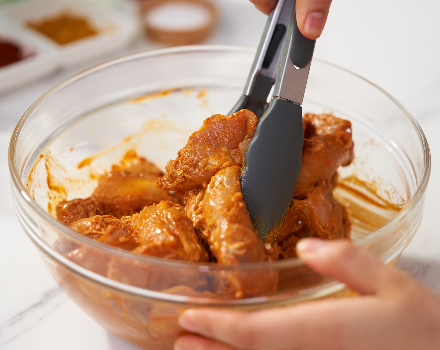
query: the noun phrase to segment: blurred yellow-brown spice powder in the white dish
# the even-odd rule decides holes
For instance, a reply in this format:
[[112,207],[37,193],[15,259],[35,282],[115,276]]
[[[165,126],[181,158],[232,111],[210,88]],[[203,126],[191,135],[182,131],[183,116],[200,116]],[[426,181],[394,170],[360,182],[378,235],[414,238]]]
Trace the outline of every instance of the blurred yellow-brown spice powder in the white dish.
[[29,21],[26,24],[60,45],[99,33],[87,18],[67,11],[41,21]]

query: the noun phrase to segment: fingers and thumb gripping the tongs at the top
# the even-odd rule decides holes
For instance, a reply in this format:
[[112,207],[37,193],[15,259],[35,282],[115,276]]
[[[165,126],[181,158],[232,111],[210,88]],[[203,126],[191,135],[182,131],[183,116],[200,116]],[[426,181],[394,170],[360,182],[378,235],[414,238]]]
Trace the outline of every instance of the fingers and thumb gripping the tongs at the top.
[[[277,0],[250,0],[260,11],[268,14]],[[326,24],[331,0],[297,0],[296,14],[300,32],[308,39],[318,38]]]

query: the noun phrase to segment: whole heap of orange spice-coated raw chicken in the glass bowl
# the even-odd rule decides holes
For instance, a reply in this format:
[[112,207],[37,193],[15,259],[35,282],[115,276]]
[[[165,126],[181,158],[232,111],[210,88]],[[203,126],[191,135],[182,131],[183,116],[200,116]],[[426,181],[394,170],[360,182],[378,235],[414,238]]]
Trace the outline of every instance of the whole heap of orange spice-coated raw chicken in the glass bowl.
[[[257,117],[246,110],[213,115],[168,162],[165,174],[146,159],[132,157],[132,162],[114,166],[99,178],[90,197],[59,203],[57,218],[82,235],[114,247],[220,265],[295,257],[295,245],[302,237],[348,237],[350,223],[332,191],[337,168],[354,157],[351,123],[327,114],[304,115],[301,171],[274,247],[259,239],[241,191],[243,155],[256,125]],[[62,251],[65,254],[66,247]],[[72,246],[66,256],[91,268],[90,251],[87,246]],[[142,267],[147,262],[132,266],[131,261],[98,255],[99,267],[94,270],[152,289],[186,285],[241,298],[271,294],[278,284],[278,274],[266,270],[258,276],[227,269],[217,275],[213,272],[210,284],[188,276],[173,281],[153,276]]]

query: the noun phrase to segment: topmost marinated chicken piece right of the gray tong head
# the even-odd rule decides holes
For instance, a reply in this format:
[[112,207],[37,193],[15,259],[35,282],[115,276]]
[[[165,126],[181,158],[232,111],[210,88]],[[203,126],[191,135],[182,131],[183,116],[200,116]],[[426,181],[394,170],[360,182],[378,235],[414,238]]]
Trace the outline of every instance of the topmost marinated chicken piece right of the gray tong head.
[[294,198],[301,198],[320,181],[329,180],[339,166],[354,158],[351,123],[328,114],[305,114],[301,170]]

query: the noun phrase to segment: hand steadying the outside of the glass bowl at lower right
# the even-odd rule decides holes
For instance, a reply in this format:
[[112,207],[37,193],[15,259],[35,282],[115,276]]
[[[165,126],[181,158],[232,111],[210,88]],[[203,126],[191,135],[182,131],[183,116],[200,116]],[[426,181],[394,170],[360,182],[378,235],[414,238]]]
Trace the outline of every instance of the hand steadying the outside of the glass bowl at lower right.
[[176,350],[438,350],[440,297],[346,240],[302,239],[298,256],[361,296],[262,311],[190,309]]

